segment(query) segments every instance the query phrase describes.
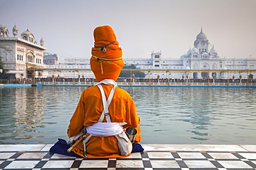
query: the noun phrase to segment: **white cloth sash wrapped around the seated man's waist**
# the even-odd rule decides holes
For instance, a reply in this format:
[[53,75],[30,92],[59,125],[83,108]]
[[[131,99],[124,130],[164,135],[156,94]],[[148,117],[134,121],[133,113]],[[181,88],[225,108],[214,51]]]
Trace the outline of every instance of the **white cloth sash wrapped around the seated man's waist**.
[[86,129],[92,136],[115,136],[123,131],[120,123],[94,123]]

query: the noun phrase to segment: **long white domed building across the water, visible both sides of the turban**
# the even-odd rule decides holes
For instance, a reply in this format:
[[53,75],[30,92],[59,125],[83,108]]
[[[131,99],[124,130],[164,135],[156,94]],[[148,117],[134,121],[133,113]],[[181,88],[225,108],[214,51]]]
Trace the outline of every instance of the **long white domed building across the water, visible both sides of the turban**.
[[[162,58],[162,53],[152,52],[151,58],[148,59],[128,59],[124,58],[125,65],[134,64],[138,69],[158,69],[158,70],[188,70],[188,72],[172,72],[166,75],[165,71],[145,72],[147,77],[156,78],[159,74],[162,78],[181,78],[185,74],[189,74],[190,78],[207,78],[208,72],[204,70],[255,70],[256,69],[256,59],[226,59],[221,58],[214,47],[208,41],[207,36],[201,32],[196,36],[194,41],[194,47],[188,50],[186,54],[180,56],[179,59],[165,59]],[[90,59],[89,58],[71,58],[67,57],[64,59],[64,64],[62,65],[48,65],[48,68],[72,68],[72,69],[89,69]],[[196,72],[190,72],[189,70],[199,70]],[[50,73],[50,75],[52,72]],[[74,73],[62,73],[63,76],[74,76]],[[78,73],[77,73],[78,74]],[[80,71],[80,74],[91,76],[91,74]],[[228,74],[224,72],[210,72],[210,77],[213,75],[215,78],[231,78],[232,75],[236,78],[239,74],[243,74],[246,78],[246,73],[232,72]]]

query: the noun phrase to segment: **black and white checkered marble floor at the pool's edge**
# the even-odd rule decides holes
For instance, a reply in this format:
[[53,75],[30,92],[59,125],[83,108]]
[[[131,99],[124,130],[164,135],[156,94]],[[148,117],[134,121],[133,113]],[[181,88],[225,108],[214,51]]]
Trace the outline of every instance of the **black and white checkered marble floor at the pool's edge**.
[[[0,147],[0,169],[256,169],[256,151],[167,151],[150,149],[132,153],[127,158],[83,159],[40,151],[3,151]],[[161,151],[162,150],[162,151]],[[254,149],[253,149],[254,150]]]

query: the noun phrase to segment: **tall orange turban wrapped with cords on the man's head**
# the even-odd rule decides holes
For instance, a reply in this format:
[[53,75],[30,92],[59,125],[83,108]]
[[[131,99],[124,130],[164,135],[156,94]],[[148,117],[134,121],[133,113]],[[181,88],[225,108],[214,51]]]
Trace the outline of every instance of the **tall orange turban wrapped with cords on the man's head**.
[[116,41],[113,29],[106,25],[95,28],[93,32],[94,47],[91,49],[91,70],[98,82],[104,79],[116,81],[124,66],[122,48]]

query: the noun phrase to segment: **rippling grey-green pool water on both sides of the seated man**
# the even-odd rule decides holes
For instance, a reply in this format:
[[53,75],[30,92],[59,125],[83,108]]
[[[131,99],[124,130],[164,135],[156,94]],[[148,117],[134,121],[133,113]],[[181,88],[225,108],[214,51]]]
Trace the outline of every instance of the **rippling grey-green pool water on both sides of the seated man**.
[[[1,87],[0,144],[54,143],[85,87]],[[254,144],[255,88],[122,87],[145,144]]]

